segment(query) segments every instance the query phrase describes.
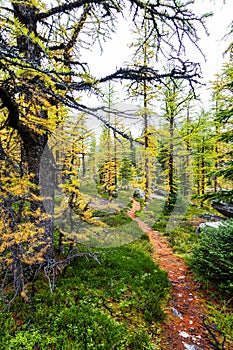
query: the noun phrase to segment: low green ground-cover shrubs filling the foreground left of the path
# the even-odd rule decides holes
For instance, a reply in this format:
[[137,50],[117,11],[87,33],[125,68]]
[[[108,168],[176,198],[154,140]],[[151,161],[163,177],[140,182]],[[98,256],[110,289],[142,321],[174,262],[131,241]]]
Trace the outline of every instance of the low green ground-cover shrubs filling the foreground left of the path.
[[99,263],[79,258],[53,293],[41,275],[31,303],[16,298],[9,312],[0,313],[0,349],[158,349],[169,284],[150,247],[144,235],[101,251]]

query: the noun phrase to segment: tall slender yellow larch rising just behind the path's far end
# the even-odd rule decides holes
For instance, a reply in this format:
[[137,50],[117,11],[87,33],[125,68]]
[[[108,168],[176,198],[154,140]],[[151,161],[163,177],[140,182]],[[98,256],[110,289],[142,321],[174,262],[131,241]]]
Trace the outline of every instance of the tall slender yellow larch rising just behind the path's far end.
[[[139,19],[134,30],[136,40],[130,45],[134,50],[133,64],[135,66],[153,68],[155,69],[156,63],[156,38],[151,35],[151,26],[153,24],[147,20],[147,13],[145,8],[144,18]],[[140,136],[140,142],[143,145],[143,149],[140,149],[141,153],[141,167],[143,173],[143,191],[145,192],[145,202],[148,200],[149,192],[152,186],[152,168],[150,161],[150,153],[154,153],[149,147],[150,142],[150,126],[153,123],[154,116],[154,99],[157,94],[158,87],[154,86],[154,83],[147,80],[138,83],[136,86],[131,83],[128,87],[128,95],[131,99],[136,99],[139,102],[139,111],[137,115],[142,118],[142,132]]]

